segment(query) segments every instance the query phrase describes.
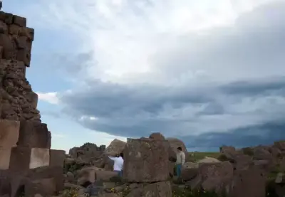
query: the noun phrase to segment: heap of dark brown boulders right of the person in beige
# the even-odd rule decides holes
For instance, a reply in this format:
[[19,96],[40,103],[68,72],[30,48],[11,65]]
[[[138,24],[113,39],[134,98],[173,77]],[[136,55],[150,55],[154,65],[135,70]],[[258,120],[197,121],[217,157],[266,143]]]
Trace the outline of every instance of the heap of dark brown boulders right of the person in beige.
[[[284,171],[284,145],[284,142],[278,142],[269,147],[247,147],[240,150],[221,147],[221,161],[208,162],[204,159],[204,162],[197,162],[198,164],[189,162],[182,169],[182,178],[191,188],[214,190],[230,197],[266,196],[266,181],[271,172]],[[279,188],[280,193],[281,181],[277,182],[276,188]]]

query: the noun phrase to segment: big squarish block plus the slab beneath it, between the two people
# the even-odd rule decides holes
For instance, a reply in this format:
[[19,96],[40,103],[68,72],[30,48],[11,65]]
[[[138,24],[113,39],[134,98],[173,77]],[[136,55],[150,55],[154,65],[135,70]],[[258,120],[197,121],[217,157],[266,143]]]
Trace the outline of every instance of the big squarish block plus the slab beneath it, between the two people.
[[166,140],[128,139],[124,150],[123,178],[129,183],[143,183],[128,196],[172,196]]

